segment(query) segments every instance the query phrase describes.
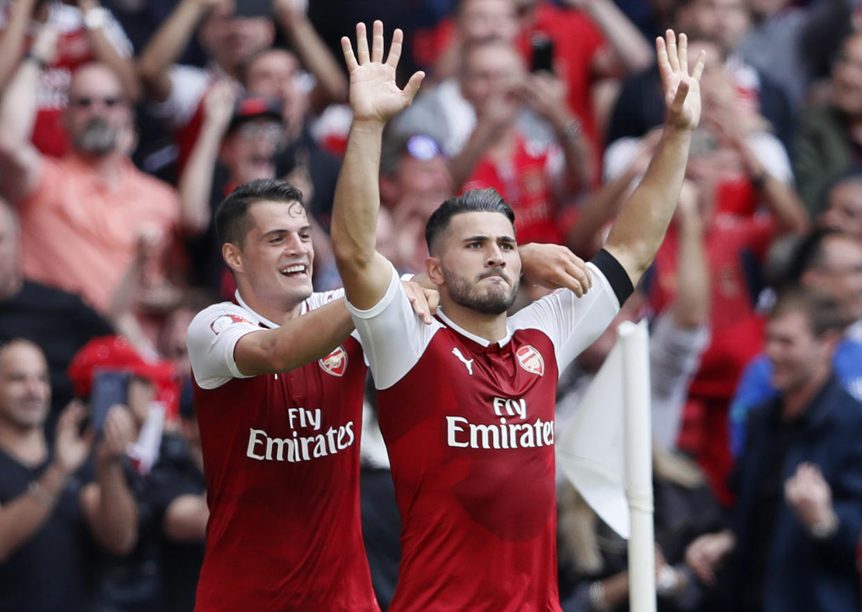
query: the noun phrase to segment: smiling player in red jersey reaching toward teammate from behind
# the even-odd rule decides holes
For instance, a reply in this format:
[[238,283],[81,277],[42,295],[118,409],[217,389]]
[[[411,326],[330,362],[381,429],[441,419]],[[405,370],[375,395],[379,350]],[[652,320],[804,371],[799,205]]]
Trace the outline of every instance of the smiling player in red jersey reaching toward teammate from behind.
[[[189,326],[209,506],[195,609],[377,612],[359,522],[365,359],[343,292],[312,292],[302,194],[241,185],[215,225],[238,289]],[[175,529],[195,521],[174,514]]]

